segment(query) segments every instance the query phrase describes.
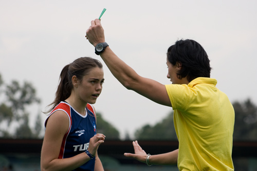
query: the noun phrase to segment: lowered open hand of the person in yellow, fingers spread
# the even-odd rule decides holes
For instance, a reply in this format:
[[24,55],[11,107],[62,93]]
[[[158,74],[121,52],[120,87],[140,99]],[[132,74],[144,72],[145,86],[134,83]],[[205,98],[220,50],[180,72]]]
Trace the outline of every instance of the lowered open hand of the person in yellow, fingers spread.
[[136,159],[140,162],[145,163],[145,159],[146,159],[146,156],[147,156],[145,151],[141,148],[141,146],[138,144],[137,141],[133,141],[133,146],[134,146],[135,154],[124,153],[124,156],[131,157],[131,158],[134,158],[134,159]]

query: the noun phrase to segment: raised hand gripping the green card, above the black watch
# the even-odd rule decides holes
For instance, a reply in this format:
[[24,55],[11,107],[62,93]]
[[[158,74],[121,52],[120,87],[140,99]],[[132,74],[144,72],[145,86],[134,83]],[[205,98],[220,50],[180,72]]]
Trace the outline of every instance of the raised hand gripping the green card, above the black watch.
[[99,19],[91,21],[91,26],[86,30],[86,39],[93,46],[105,42],[104,30]]

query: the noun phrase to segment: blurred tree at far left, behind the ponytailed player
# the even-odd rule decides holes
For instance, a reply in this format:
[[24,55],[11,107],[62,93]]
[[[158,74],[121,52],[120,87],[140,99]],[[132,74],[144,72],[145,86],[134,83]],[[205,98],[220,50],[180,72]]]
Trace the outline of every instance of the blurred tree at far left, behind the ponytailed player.
[[[36,129],[29,126],[29,113],[26,111],[32,104],[40,104],[36,90],[31,83],[20,85],[17,81],[5,84],[0,74],[0,137],[1,138],[39,138],[42,129],[40,124]],[[36,123],[40,122],[40,113]],[[5,126],[3,126],[5,125]],[[14,125],[18,125],[14,127]],[[11,132],[11,130],[14,130]]]

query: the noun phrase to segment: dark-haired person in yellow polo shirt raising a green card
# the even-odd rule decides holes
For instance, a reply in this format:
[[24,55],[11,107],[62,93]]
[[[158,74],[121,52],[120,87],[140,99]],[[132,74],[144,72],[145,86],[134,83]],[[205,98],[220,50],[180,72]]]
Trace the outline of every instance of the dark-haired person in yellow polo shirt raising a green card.
[[169,47],[167,78],[172,84],[163,85],[141,77],[118,58],[105,42],[98,19],[91,21],[86,38],[123,86],[174,110],[178,149],[151,156],[133,141],[135,154],[125,153],[126,157],[149,166],[177,164],[179,170],[234,170],[234,109],[226,94],[216,88],[217,81],[210,78],[210,61],[200,44],[179,40]]

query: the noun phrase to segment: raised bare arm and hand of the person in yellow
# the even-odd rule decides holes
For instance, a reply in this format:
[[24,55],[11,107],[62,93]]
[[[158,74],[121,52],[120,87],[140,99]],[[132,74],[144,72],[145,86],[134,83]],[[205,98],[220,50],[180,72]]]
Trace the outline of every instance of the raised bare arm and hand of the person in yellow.
[[[104,30],[98,19],[91,21],[91,26],[86,31],[88,41],[96,46],[105,42]],[[134,69],[125,64],[108,46],[100,54],[104,63],[113,73],[114,77],[127,89],[131,89],[142,96],[162,105],[171,106],[165,85],[143,78]]]

